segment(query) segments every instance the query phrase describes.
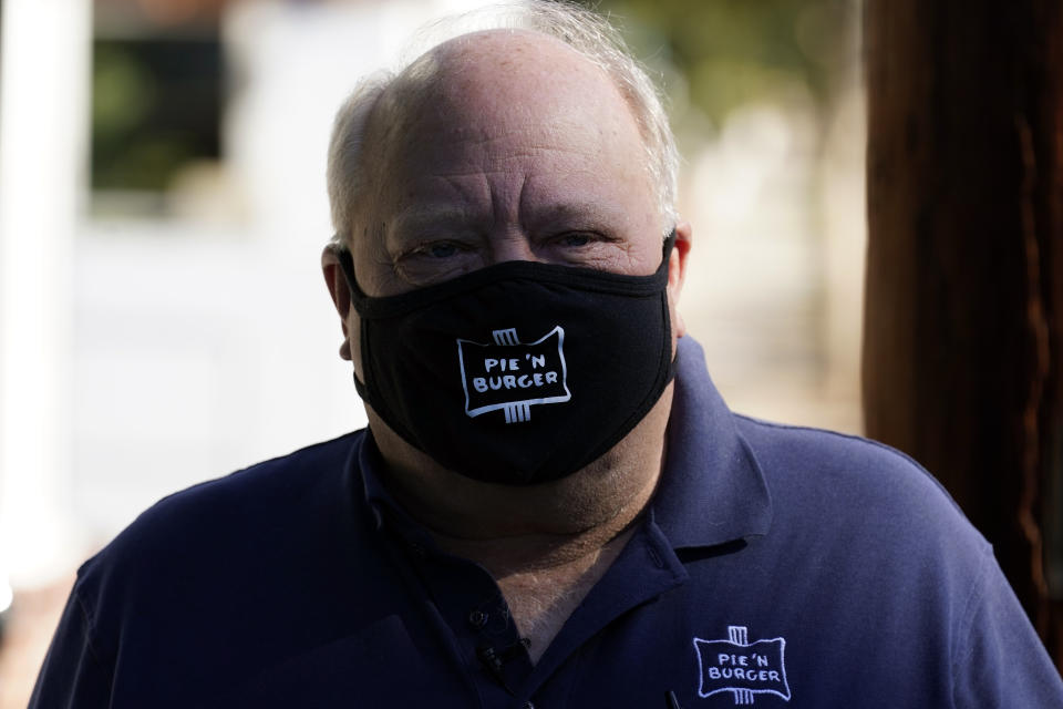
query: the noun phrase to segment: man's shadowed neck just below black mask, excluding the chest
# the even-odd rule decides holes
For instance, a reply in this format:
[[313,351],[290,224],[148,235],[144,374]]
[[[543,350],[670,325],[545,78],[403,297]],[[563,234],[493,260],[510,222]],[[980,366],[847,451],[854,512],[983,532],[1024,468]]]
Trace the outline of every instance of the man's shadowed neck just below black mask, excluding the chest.
[[396,501],[446,551],[495,578],[595,557],[649,503],[660,476],[671,387],[631,432],[576,473],[537,485],[485,483],[448,471],[367,408]]

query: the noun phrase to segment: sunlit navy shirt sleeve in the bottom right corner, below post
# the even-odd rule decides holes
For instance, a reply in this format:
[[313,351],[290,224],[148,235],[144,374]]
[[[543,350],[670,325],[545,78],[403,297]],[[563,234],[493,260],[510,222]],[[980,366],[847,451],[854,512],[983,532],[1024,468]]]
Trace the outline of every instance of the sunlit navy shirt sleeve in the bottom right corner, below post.
[[1063,679],[992,552],[953,648],[953,703],[962,709],[1063,708]]

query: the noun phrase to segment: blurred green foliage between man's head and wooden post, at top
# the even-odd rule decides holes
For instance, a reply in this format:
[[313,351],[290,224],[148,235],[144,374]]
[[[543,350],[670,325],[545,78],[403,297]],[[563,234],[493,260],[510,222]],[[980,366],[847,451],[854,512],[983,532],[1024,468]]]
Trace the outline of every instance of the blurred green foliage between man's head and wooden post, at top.
[[[733,109],[802,91],[829,104],[850,56],[855,0],[586,0],[612,16],[636,53],[719,126]],[[683,95],[677,95],[678,92]]]

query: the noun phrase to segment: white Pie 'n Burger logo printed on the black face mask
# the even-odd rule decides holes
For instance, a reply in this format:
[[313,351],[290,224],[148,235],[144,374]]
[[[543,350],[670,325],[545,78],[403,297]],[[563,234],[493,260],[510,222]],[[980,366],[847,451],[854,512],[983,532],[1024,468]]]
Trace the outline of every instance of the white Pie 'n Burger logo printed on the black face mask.
[[529,421],[532,407],[572,398],[565,363],[561,326],[527,345],[515,328],[493,330],[494,345],[457,340],[457,359],[469,418],[488,411],[505,413],[506,423]]

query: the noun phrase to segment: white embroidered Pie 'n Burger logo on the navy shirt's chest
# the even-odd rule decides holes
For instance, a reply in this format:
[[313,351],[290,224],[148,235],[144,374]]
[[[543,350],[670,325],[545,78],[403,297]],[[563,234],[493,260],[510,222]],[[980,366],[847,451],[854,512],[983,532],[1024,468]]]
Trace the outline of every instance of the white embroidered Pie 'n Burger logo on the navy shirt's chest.
[[730,691],[734,703],[752,705],[756,695],[775,695],[789,701],[786,682],[786,640],[749,641],[745,626],[727,626],[726,640],[694,638],[701,685],[698,696]]

